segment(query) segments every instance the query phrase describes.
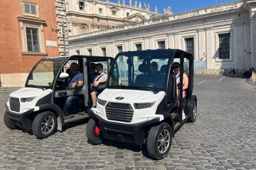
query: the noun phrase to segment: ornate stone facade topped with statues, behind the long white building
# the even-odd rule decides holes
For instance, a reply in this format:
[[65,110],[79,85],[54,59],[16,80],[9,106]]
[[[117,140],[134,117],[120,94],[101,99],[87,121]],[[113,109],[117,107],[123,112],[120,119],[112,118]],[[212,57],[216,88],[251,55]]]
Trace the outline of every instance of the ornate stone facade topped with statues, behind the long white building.
[[[126,1],[127,2],[127,1]],[[117,25],[139,22],[151,16],[160,15],[150,11],[150,5],[142,6],[141,1],[125,0],[113,3],[100,0],[65,0],[67,6],[68,36],[113,28]]]

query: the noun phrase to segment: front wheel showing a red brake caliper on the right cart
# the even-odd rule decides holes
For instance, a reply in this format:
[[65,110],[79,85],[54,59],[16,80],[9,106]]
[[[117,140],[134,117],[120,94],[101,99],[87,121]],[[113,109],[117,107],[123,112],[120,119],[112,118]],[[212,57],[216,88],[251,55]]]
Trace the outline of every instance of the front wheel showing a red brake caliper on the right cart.
[[93,145],[100,145],[101,141],[101,127],[98,121],[90,118],[86,126],[86,136]]

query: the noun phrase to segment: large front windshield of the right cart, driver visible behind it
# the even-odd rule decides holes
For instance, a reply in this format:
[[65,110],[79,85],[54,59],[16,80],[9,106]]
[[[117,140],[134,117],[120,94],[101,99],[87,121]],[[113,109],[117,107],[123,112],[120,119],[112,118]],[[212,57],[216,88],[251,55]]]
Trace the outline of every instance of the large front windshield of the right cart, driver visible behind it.
[[172,50],[123,52],[115,57],[107,88],[164,91]]

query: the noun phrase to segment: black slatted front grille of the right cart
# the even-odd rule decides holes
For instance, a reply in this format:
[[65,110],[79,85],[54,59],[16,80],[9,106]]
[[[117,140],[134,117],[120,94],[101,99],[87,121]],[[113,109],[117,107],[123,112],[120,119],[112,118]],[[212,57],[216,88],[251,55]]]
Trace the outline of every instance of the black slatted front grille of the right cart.
[[108,103],[106,105],[106,117],[108,120],[131,122],[133,120],[133,112],[130,104]]

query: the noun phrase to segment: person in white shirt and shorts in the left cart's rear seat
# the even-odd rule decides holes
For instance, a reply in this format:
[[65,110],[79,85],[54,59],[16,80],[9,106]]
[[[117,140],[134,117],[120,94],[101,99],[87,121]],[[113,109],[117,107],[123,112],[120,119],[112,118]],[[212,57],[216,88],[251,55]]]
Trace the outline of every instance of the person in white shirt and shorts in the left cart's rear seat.
[[98,72],[98,76],[94,78],[94,81],[92,83],[92,92],[90,94],[92,96],[93,108],[96,108],[96,88],[100,85],[100,83],[106,83],[106,80],[108,79],[108,74],[103,72],[103,65],[101,63],[97,63],[96,70]]

